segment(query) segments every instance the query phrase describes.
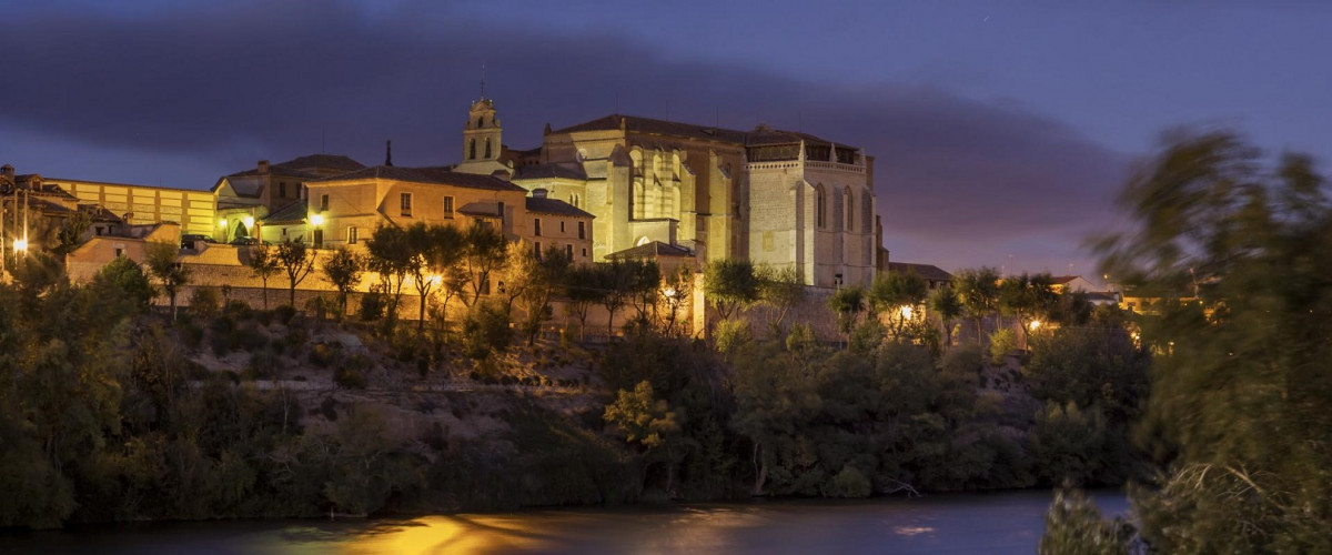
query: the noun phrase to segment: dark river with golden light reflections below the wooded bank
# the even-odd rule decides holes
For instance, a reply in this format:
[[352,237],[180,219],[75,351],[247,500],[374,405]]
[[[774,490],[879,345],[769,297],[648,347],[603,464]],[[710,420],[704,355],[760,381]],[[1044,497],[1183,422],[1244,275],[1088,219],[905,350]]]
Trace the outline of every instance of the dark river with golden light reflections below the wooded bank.
[[[1124,514],[1122,492],[1092,495]],[[0,532],[51,554],[1032,554],[1050,491],[916,499],[550,508],[369,520],[237,520]]]

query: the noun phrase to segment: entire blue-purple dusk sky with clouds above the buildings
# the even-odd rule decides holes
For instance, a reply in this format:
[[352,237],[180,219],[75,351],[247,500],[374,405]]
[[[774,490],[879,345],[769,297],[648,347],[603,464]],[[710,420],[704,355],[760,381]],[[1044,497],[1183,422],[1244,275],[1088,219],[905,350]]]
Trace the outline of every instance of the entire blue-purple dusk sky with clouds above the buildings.
[[452,164],[484,63],[513,148],[615,112],[798,129],[876,158],[895,261],[1092,276],[1162,132],[1332,154],[1328,3],[822,4],[0,1],[0,162],[197,189],[389,138]]

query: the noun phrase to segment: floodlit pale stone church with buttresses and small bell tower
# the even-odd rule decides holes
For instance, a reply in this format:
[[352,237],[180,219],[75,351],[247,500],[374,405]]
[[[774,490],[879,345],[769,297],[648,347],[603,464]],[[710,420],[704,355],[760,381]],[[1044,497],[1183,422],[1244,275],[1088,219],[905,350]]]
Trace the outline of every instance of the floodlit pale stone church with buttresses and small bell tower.
[[509,176],[595,216],[595,260],[649,244],[698,264],[795,268],[807,285],[868,285],[879,266],[874,158],[850,145],[611,114],[550,129],[539,148],[502,142],[494,101],[472,104],[454,172]]

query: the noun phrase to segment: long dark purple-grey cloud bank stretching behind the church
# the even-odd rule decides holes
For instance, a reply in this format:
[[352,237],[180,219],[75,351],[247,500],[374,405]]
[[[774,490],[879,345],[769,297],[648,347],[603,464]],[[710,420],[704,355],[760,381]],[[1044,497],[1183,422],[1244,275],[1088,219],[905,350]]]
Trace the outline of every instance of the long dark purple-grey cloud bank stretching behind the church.
[[[906,257],[954,268],[990,262],[956,258],[986,244],[999,252],[991,260],[1015,249],[1067,257],[1104,221],[1123,177],[1123,154],[1011,105],[811,83],[658,48],[430,5],[368,13],[340,3],[228,4],[151,17],[36,11],[0,33],[9,72],[0,118],[84,149],[198,157],[200,174],[166,180],[197,186],[321,144],[378,162],[393,138],[398,164],[446,164],[461,153],[462,116],[485,63],[511,146],[539,144],[546,122],[610,112],[742,129],[765,121],[864,146],[876,157],[888,246],[900,237],[919,245]],[[99,178],[77,164],[31,170]]]

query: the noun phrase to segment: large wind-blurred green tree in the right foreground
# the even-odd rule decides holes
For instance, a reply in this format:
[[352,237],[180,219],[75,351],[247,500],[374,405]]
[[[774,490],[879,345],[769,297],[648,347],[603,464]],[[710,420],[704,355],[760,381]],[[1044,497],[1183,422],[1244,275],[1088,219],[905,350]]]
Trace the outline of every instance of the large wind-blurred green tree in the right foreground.
[[[1098,241],[1154,351],[1146,429],[1164,472],[1135,495],[1160,552],[1329,552],[1332,205],[1311,158],[1176,134]],[[1181,299],[1183,297],[1183,299]]]

